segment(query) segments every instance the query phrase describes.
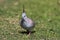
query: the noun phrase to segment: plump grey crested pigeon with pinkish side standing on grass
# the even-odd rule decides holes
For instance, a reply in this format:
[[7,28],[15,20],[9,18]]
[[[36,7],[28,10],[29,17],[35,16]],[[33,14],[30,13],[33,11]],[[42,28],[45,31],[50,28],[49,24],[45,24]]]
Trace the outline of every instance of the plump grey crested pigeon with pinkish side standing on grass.
[[22,16],[21,16],[21,21],[20,21],[20,26],[27,31],[27,33],[30,35],[32,29],[35,27],[35,23],[31,18],[28,18],[25,12],[25,8],[23,5],[23,11],[22,11]]

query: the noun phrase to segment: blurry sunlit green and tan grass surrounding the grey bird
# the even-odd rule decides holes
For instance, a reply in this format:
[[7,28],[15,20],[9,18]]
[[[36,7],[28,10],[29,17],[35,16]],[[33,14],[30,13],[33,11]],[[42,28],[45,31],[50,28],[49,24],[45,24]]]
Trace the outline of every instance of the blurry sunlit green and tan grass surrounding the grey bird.
[[[60,0],[0,0],[0,40],[60,40]],[[23,4],[36,23],[27,37],[18,31]]]

